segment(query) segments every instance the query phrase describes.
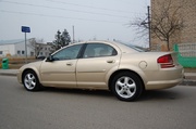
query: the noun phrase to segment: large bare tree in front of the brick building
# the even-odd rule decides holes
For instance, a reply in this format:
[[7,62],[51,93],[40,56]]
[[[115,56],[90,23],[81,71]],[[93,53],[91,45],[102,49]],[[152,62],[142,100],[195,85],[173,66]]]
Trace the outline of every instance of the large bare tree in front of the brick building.
[[[181,14],[183,11],[184,0],[152,0],[152,9],[150,21],[146,24],[145,20],[135,21],[131,23],[131,26],[140,28],[143,31],[150,29],[151,37],[158,38],[161,41],[167,42],[167,49],[170,51],[170,40],[184,28],[184,21]],[[150,25],[150,26],[149,26]],[[140,30],[139,29],[139,30]],[[143,35],[145,35],[140,31]],[[151,43],[151,42],[150,42]],[[150,48],[151,49],[151,48]]]

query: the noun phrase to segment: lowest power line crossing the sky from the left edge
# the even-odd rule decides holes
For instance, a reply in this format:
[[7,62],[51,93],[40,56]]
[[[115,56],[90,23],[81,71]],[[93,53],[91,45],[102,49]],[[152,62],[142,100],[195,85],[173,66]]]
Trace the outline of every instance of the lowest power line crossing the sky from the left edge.
[[15,11],[7,11],[7,10],[0,10],[0,12],[2,12],[2,13],[13,13],[13,14],[23,14],[23,15],[35,15],[35,16],[46,16],[46,17],[69,18],[69,20],[77,20],[77,21],[91,21],[91,22],[101,22],[101,23],[113,23],[113,24],[123,24],[124,23],[124,22],[99,21],[99,20],[89,20],[89,18],[65,17],[65,16],[58,16],[58,15],[46,15],[46,14],[37,14],[37,13],[15,12]]

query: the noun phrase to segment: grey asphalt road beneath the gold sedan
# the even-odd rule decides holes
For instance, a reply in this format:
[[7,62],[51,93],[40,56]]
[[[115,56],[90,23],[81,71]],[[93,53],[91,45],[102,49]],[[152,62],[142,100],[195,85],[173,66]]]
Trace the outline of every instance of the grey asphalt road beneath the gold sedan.
[[0,76],[0,129],[196,129],[196,87],[177,86],[122,102],[108,91],[28,92]]

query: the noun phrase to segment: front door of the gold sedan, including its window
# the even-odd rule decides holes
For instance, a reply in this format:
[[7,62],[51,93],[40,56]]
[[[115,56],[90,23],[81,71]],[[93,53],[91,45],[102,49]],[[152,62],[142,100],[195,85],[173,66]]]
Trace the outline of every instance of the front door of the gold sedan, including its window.
[[40,66],[41,82],[46,86],[76,87],[75,67],[82,44],[64,48]]

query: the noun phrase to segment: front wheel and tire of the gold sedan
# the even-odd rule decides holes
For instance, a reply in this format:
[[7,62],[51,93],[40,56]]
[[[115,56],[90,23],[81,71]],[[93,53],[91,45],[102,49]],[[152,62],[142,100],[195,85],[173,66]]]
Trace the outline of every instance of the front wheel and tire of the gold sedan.
[[38,91],[41,89],[39,79],[34,70],[26,70],[24,73],[23,85],[27,91]]

